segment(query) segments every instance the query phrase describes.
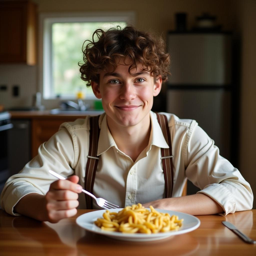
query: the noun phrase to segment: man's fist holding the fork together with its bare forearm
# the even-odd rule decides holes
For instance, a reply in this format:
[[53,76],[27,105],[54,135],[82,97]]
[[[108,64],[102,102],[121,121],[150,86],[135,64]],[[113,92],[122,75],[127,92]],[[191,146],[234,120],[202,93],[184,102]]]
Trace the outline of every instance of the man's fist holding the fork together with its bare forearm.
[[56,223],[61,219],[76,215],[79,202],[79,177],[74,175],[65,180],[56,180],[50,185],[46,195],[31,193],[19,200],[14,208],[19,214]]

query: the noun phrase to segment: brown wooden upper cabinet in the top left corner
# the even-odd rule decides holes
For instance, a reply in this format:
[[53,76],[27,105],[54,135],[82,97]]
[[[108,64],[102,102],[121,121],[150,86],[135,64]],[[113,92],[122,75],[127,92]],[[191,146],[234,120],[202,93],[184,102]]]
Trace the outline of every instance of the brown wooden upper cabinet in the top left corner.
[[37,7],[29,1],[0,1],[0,64],[36,64]]

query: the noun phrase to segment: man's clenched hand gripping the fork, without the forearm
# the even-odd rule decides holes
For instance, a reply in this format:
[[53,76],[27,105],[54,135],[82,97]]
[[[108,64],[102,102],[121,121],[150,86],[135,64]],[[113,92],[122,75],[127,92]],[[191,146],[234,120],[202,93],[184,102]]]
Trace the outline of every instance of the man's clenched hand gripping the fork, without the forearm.
[[74,175],[65,180],[56,180],[50,185],[45,195],[45,214],[48,221],[54,223],[77,214],[78,193],[82,192],[78,181],[79,177]]

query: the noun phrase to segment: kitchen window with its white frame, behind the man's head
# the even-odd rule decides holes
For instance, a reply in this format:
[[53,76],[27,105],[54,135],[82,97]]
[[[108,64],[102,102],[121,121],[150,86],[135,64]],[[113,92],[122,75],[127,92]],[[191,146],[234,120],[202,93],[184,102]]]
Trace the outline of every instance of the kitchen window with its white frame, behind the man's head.
[[[125,27],[134,23],[134,13],[41,14],[39,35],[39,82],[44,100],[95,99],[91,87],[81,80],[78,62],[82,45],[97,28]],[[41,44],[41,45],[40,45]]]

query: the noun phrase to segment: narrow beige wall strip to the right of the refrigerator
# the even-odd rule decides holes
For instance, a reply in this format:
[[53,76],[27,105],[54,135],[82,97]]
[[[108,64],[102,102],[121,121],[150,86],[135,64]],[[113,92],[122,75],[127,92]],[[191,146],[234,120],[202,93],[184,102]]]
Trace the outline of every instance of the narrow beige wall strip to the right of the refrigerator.
[[[236,28],[241,39],[239,168],[256,196],[256,1],[236,1]],[[256,209],[256,200],[253,208]]]

